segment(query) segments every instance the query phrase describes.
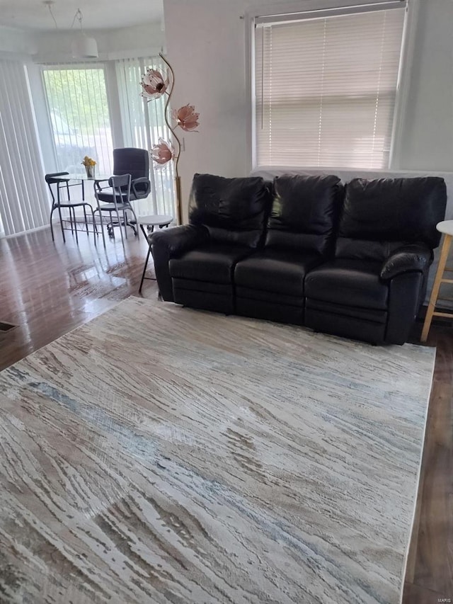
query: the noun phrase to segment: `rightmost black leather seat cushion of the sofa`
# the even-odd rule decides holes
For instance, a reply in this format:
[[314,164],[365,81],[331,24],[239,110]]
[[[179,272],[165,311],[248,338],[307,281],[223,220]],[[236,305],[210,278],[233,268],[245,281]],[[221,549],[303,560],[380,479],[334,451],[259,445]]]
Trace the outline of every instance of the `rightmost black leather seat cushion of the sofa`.
[[389,288],[379,278],[381,263],[338,258],[312,270],[305,280],[307,300],[386,310]]

